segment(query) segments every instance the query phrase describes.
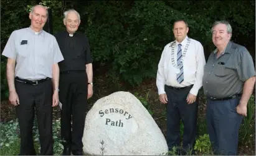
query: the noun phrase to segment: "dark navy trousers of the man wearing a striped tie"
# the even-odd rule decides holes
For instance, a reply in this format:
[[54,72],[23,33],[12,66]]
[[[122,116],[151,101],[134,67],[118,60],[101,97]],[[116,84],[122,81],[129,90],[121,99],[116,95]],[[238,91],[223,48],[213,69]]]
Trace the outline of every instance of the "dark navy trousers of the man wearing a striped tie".
[[[187,104],[186,98],[192,87],[187,87],[181,90],[174,90],[171,87],[165,85],[164,89],[168,97],[168,103],[166,106],[167,111],[167,144],[169,150],[173,150],[173,147],[180,146],[180,119],[184,124],[183,133],[183,149],[178,150],[179,154],[186,154],[189,150],[192,150],[196,141],[196,128],[197,128],[197,110],[198,101]],[[192,150],[194,152],[194,150]]]

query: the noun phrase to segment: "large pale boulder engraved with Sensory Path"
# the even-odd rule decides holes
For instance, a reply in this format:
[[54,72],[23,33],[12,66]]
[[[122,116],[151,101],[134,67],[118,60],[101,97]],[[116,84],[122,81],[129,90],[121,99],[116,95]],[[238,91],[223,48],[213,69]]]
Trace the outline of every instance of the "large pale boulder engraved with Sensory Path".
[[87,113],[83,152],[88,155],[165,155],[161,129],[133,94],[100,98]]

